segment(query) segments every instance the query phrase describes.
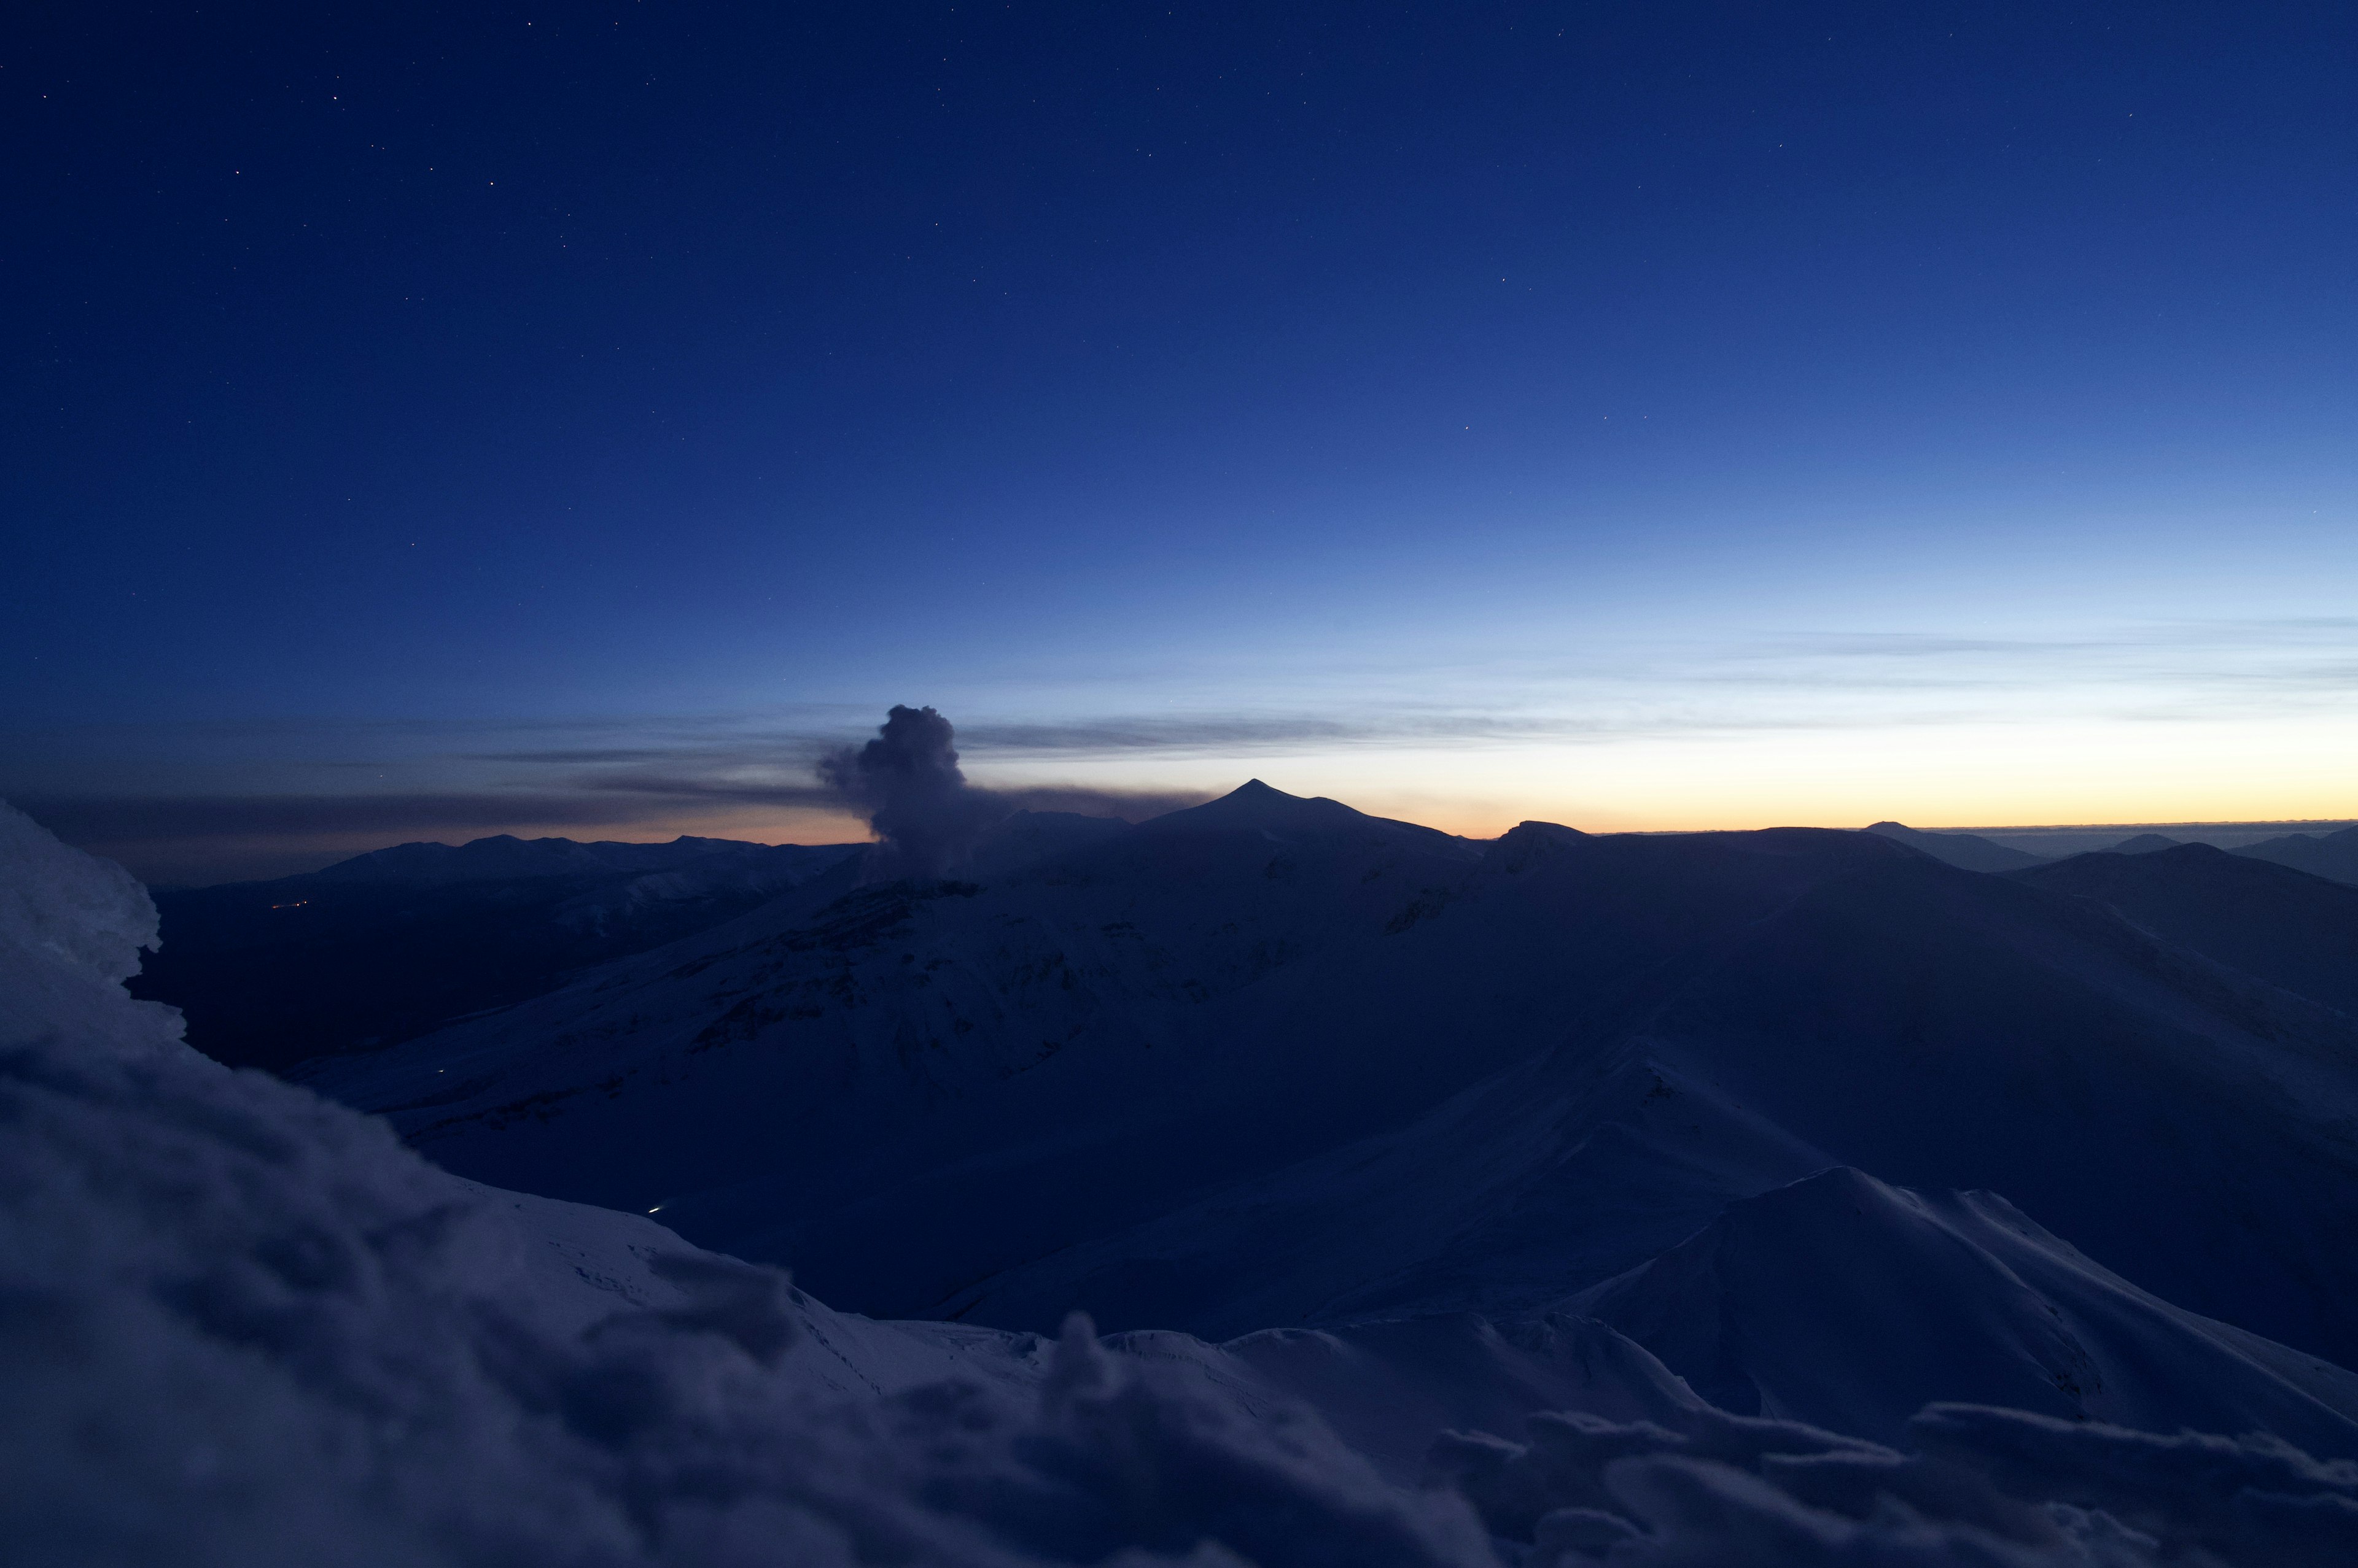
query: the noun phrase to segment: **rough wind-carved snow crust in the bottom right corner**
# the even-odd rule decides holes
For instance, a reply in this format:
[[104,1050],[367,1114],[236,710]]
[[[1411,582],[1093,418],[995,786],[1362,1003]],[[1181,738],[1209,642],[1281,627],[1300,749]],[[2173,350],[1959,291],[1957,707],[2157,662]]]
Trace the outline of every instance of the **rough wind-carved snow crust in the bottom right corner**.
[[2275,1438],[2155,1436],[1931,1405],[1917,1450],[1695,1410],[1674,1427],[1535,1415],[1448,1434],[1448,1476],[1528,1568],[2327,1568],[2358,1549],[2358,1467]]

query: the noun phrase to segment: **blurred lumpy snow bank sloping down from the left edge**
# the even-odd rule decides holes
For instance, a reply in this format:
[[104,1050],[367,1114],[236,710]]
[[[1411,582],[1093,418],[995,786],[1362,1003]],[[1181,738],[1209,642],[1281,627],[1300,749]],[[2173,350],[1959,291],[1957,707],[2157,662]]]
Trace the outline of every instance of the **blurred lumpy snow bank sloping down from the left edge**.
[[[457,1181],[113,981],[137,887],[24,818],[0,1035],[0,1530],[75,1563],[1478,1563],[1316,1417],[839,1318],[660,1226]],[[24,990],[42,964],[66,971]],[[111,988],[111,997],[101,990]],[[47,1002],[68,993],[71,1004]]]

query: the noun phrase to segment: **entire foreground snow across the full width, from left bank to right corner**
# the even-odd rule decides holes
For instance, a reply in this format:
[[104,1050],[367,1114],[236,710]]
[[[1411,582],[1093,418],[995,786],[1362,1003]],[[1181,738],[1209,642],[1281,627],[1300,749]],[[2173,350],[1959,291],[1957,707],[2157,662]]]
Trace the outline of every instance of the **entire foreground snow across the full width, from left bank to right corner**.
[[[1877,1445],[1714,1410],[1580,1318],[1210,1346],[832,1313],[653,1221],[460,1181],[382,1122],[217,1068],[120,990],[153,934],[134,884],[5,806],[0,872],[0,1530],[26,1561],[1988,1566],[2358,1547],[2358,1467],[2280,1438],[1941,1405]],[[1509,1436],[1429,1431],[1448,1424]],[[1417,1443],[1424,1483],[1405,1474]]]

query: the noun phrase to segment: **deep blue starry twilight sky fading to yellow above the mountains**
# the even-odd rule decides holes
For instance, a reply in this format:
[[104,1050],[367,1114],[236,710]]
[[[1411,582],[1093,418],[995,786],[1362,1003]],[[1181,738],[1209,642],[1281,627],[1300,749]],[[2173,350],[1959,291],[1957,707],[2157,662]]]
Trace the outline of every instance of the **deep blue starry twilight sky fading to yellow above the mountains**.
[[160,882],[2358,813],[2358,12],[45,7],[0,795]]

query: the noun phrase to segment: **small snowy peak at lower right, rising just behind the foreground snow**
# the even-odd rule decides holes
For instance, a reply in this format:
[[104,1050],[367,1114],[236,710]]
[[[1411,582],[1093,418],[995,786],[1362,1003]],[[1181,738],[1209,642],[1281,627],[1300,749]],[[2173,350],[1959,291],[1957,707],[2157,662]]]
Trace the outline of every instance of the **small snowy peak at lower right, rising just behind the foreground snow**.
[[1726,1410],[1886,1443],[1922,1405],[1969,1401],[2358,1457],[2358,1377],[2136,1290],[1993,1193],[1837,1167],[1728,1205],[1566,1311]]

